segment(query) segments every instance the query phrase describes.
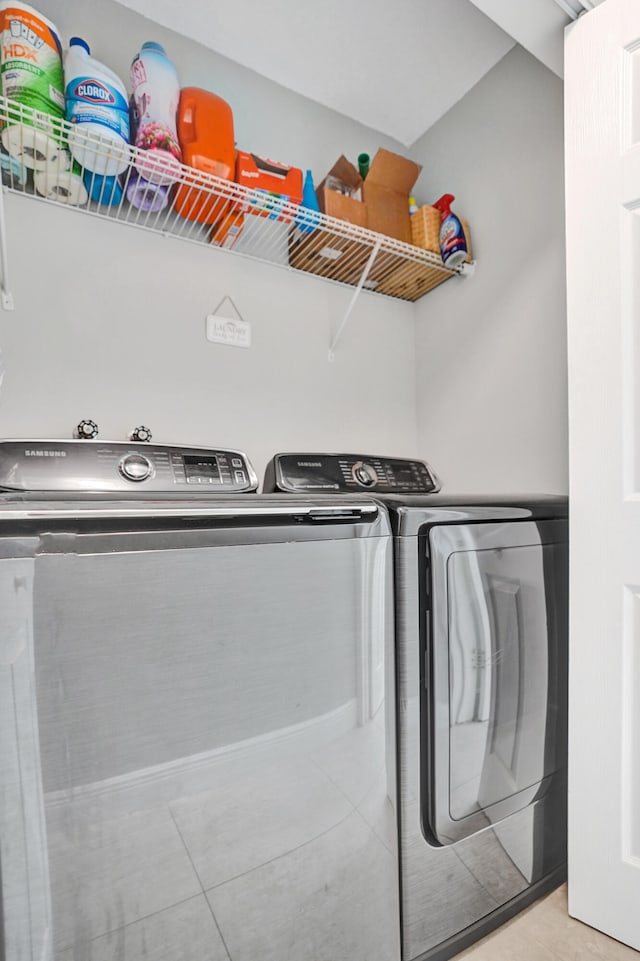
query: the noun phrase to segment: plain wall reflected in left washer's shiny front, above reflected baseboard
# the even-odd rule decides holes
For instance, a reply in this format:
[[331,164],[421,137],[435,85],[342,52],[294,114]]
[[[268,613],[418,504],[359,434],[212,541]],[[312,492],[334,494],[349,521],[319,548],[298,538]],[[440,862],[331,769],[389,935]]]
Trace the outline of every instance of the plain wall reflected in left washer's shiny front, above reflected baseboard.
[[39,557],[45,790],[355,714],[354,545]]

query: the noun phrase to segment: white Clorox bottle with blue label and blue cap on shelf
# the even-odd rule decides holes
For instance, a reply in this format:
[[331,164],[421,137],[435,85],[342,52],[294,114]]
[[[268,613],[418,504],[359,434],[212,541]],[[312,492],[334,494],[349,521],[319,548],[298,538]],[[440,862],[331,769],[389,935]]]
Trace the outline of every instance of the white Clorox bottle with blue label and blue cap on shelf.
[[86,170],[113,177],[129,165],[129,104],[125,85],[72,37],[64,61],[69,149]]

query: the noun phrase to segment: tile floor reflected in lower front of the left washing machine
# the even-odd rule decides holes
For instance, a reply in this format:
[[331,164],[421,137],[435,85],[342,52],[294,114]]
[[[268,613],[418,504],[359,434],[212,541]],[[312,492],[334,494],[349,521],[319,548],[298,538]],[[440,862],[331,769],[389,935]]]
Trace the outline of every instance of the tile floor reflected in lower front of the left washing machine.
[[397,959],[375,720],[52,795],[47,829],[55,961]]

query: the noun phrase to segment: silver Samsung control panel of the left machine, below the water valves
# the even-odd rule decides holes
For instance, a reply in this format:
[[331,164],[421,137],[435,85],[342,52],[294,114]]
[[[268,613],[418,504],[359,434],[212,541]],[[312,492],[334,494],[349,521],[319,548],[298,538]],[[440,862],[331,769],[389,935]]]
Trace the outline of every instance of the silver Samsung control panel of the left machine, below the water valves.
[[103,441],[0,441],[0,489],[243,494],[258,478],[241,451]]

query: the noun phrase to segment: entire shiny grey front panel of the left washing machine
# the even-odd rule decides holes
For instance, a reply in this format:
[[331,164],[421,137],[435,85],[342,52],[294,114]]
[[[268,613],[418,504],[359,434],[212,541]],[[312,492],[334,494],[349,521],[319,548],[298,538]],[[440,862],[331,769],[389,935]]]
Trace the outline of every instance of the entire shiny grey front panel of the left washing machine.
[[[32,642],[0,785],[23,735],[39,730],[42,757],[40,821],[0,790],[3,961],[41,961],[41,888],[11,844],[43,814],[60,961],[399,961],[386,520],[371,536],[269,520],[48,530],[34,558],[0,562],[7,604],[21,564],[33,588],[8,621],[0,607],[6,636]],[[5,600],[2,585],[0,568]]]

